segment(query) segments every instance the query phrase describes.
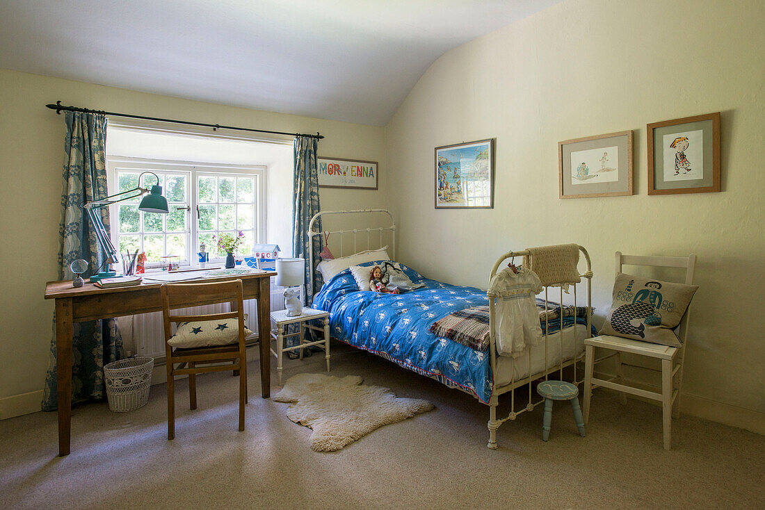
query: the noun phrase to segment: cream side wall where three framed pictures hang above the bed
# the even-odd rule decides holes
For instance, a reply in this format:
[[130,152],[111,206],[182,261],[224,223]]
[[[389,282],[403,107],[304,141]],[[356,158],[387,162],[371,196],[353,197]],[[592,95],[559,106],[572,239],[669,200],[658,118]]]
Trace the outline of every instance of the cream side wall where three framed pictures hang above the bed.
[[[693,252],[684,405],[765,430],[763,20],[761,0],[567,0],[444,54],[386,126],[399,258],[485,288],[503,252],[577,242],[602,316],[616,250]],[[648,197],[646,123],[718,111],[723,192]],[[559,200],[558,141],[627,129],[633,197]],[[496,138],[494,209],[434,210],[434,148],[482,138]]]

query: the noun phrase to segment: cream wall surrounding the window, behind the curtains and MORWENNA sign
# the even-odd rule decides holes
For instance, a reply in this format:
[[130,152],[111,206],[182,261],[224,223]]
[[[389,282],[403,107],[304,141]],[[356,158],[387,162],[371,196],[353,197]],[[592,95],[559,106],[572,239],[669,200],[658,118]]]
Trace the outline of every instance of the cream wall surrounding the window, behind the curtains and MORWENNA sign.
[[[322,189],[323,209],[386,206],[381,127],[309,119],[0,70],[0,418],[39,409],[48,365],[56,279],[63,104],[285,132],[321,132],[319,154],[379,161],[379,190]],[[291,168],[280,168],[288,171]],[[269,207],[269,210],[272,208]],[[291,214],[291,205],[283,204]]]

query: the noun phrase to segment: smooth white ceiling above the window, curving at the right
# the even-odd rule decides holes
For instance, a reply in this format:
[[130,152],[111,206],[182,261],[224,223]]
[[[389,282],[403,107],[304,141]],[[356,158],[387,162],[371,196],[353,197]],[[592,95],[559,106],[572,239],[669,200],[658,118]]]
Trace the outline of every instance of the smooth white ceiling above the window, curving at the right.
[[384,125],[446,51],[559,1],[0,0],[0,67]]

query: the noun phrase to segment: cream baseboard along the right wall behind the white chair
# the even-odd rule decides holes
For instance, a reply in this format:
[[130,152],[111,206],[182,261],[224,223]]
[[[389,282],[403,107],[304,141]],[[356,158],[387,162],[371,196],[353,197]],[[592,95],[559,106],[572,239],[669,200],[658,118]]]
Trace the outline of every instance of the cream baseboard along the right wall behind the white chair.
[[[611,378],[614,374],[607,372],[595,372],[596,378]],[[625,378],[624,381],[627,385],[634,386],[635,388],[644,389],[647,391],[660,391],[659,386],[650,385],[643,381],[638,381],[633,378]],[[614,391],[610,388],[599,388],[604,391]],[[636,398],[641,401],[649,402],[654,405],[661,405],[661,402],[651,400],[650,398],[642,398],[638,395],[627,395],[627,398]],[[688,393],[680,394],[680,412],[683,414],[690,414],[691,416],[699,417],[704,420],[716,421],[721,424],[730,425],[731,427],[743,428],[756,432],[757,434],[765,435],[765,413],[755,411],[754,409],[739,408],[738,406],[731,404],[724,404],[710,400],[704,397],[698,397],[696,395],[688,395]]]

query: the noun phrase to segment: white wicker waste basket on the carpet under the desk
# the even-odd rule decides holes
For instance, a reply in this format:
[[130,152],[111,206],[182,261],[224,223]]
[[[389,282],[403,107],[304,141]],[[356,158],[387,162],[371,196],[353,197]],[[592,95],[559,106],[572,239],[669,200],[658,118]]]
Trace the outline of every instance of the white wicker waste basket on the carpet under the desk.
[[148,402],[154,358],[120,359],[103,366],[109,409],[117,413],[135,411]]

